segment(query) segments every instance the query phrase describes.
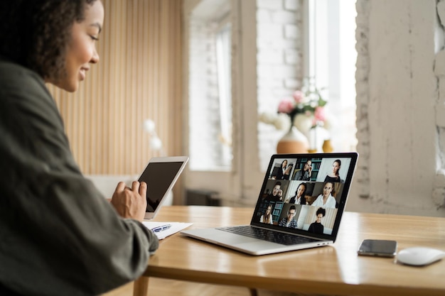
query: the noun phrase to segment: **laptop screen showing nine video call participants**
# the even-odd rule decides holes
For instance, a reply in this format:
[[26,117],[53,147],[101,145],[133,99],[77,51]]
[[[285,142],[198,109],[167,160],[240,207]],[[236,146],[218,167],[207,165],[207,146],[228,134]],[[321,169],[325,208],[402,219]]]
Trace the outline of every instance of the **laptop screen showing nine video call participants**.
[[357,153],[272,155],[252,224],[335,239]]

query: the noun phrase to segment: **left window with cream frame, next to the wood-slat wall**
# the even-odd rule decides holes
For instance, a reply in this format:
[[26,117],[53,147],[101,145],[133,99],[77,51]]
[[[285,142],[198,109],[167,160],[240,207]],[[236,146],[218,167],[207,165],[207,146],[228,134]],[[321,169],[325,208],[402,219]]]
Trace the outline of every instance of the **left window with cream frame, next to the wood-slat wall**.
[[188,190],[218,192],[223,205],[252,205],[264,176],[255,128],[255,10],[256,0],[184,2],[190,156],[185,184]]

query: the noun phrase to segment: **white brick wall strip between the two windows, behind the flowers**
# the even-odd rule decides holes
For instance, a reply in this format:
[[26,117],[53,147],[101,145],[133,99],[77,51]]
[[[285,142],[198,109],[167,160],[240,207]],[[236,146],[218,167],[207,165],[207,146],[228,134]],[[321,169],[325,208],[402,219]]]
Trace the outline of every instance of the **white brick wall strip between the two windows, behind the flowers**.
[[[257,97],[258,111],[277,110],[279,101],[300,86],[302,40],[300,0],[257,0]],[[261,168],[267,168],[270,155],[285,131],[259,123]]]

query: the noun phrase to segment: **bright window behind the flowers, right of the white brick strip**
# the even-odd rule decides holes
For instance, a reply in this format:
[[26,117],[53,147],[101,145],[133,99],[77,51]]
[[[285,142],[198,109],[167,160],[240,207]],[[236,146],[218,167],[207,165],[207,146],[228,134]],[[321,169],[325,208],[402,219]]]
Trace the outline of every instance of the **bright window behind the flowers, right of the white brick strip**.
[[326,87],[333,118],[326,137],[338,151],[355,151],[356,0],[306,0],[306,75]]

